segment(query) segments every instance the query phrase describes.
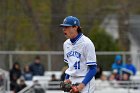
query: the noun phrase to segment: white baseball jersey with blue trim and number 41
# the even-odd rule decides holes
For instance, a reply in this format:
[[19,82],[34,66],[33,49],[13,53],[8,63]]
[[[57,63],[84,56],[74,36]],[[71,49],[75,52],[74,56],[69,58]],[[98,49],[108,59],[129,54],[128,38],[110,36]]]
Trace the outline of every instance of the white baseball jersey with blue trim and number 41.
[[97,65],[94,44],[83,34],[73,43],[67,39],[63,49],[64,61],[69,66],[65,73],[70,76],[85,76],[89,71],[88,65]]

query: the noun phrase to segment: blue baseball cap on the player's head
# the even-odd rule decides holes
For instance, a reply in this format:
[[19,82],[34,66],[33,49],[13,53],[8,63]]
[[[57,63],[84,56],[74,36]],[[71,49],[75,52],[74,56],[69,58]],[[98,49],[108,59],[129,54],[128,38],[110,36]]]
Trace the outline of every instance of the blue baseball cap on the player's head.
[[64,19],[63,24],[60,24],[60,27],[65,26],[79,26],[80,27],[80,21],[78,18],[74,16],[68,16]]

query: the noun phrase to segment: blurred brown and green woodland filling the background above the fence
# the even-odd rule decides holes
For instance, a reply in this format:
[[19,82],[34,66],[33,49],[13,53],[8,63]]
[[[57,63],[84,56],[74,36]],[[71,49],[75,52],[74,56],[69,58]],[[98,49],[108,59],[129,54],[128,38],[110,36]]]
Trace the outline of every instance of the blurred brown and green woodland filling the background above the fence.
[[[125,36],[121,32],[127,33],[128,29],[123,23],[129,15],[140,14],[139,3],[140,0],[1,0],[0,51],[61,51],[66,38],[59,24],[68,15],[80,19],[83,33],[93,41],[96,51],[126,51],[129,43],[123,42],[127,40],[121,38]],[[118,40],[100,28],[110,14],[119,16]],[[98,58],[99,64],[106,58]],[[114,56],[110,58],[107,67]]]

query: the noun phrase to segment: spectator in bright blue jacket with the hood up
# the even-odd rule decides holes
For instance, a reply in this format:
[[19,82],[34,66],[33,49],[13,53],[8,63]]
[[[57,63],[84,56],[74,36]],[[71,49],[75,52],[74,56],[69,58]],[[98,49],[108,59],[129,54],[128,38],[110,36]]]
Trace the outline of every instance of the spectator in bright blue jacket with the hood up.
[[120,75],[121,69],[124,67],[124,63],[122,62],[122,57],[120,55],[117,55],[115,57],[115,61],[112,64],[112,70],[113,72],[117,73]]

